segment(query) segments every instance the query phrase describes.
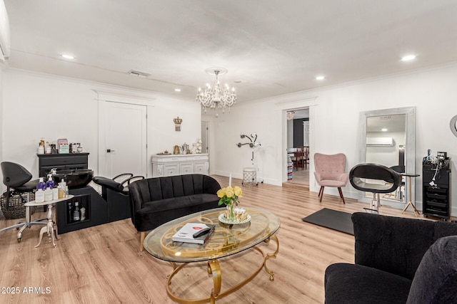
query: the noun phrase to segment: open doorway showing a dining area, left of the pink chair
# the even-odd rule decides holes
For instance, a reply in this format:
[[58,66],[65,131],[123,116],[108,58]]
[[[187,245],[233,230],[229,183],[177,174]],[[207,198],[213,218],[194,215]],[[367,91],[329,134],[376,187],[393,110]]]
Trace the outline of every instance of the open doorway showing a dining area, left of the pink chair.
[[287,111],[286,187],[309,189],[309,107]]

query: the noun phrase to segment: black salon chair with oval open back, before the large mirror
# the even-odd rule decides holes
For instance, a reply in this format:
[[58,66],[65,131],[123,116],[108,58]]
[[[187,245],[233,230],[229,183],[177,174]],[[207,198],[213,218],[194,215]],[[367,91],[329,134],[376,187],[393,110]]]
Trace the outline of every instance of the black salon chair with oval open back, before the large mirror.
[[364,209],[378,213],[379,194],[396,191],[401,184],[401,174],[382,164],[357,164],[349,172],[349,182],[357,190],[373,193],[370,207]]

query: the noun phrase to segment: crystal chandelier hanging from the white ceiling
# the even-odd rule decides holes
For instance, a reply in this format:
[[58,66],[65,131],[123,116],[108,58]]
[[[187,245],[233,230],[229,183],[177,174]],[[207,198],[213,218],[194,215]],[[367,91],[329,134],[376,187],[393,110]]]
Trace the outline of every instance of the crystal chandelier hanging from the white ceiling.
[[223,75],[227,73],[225,68],[208,68],[206,73],[216,75],[216,80],[213,85],[206,83],[205,90],[199,88],[199,93],[197,93],[196,100],[198,100],[204,108],[206,113],[206,108],[211,108],[216,110],[216,117],[219,116],[217,110],[222,109],[224,113],[226,108],[229,108],[236,103],[236,94],[235,88],[229,88],[229,85],[221,87],[219,83],[218,75]]

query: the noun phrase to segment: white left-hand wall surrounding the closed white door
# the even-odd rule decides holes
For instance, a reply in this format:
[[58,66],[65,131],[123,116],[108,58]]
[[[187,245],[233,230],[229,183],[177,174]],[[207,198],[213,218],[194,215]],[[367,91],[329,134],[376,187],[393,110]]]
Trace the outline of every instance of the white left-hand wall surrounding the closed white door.
[[[174,145],[191,144],[201,133],[200,105],[140,90],[103,83],[62,78],[23,70],[6,70],[4,85],[3,159],[18,162],[38,177],[36,149],[41,137],[49,142],[66,138],[81,142],[90,152],[89,168],[98,172],[98,100],[96,91],[149,96],[148,173],[151,154],[172,151]],[[183,118],[181,132],[175,132],[173,118]]]

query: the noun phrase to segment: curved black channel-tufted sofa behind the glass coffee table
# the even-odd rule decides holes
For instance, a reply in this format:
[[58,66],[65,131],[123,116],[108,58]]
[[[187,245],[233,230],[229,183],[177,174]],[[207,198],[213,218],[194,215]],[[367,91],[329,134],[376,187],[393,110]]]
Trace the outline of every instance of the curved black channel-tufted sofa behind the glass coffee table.
[[216,179],[203,174],[153,177],[131,183],[131,221],[140,232],[140,251],[146,231],[181,216],[217,208],[219,189]]

